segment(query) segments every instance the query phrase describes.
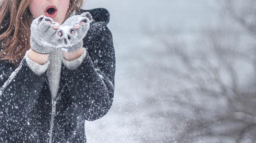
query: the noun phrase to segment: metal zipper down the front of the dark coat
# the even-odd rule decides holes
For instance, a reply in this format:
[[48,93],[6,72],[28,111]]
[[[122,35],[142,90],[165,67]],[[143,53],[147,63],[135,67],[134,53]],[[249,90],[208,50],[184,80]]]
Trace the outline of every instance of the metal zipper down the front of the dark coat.
[[[50,88],[50,85],[48,83],[48,81],[46,80],[48,87]],[[67,84],[67,83],[66,83]],[[65,85],[66,85],[65,84]],[[51,113],[51,122],[50,122],[50,137],[49,137],[49,143],[52,143],[52,130],[53,130],[53,125],[54,125],[54,117],[56,115],[56,103],[57,100],[59,99],[60,95],[63,92],[63,89],[65,87],[65,85],[63,86],[63,88],[61,89],[61,92],[56,96],[56,99],[52,98],[52,113]],[[52,97],[52,96],[51,96]]]

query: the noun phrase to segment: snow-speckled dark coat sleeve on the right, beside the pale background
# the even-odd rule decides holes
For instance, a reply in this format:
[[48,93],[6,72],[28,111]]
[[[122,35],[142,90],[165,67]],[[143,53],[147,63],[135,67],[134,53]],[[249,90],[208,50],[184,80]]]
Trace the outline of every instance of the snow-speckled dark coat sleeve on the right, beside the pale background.
[[94,40],[84,41],[84,46],[88,48],[81,65],[76,69],[68,69],[62,63],[74,110],[88,121],[103,117],[114,97],[113,39],[106,26],[102,29]]

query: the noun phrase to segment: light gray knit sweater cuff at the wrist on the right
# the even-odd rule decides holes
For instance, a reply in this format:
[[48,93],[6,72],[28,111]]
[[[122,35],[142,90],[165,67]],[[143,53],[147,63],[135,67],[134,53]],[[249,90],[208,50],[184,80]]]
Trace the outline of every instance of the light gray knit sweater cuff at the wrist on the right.
[[63,61],[64,66],[67,67],[67,69],[74,70],[74,69],[76,69],[77,67],[79,67],[81,65],[81,63],[83,62],[83,60],[86,56],[86,49],[85,48],[83,48],[83,49],[84,49],[84,52],[81,54],[81,56],[77,59],[72,60],[72,61],[67,61],[63,56],[62,61]]

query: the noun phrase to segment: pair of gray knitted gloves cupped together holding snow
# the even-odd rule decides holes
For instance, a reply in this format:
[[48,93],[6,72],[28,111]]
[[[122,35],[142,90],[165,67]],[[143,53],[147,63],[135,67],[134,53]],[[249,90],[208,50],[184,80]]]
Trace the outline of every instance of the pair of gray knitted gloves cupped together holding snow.
[[73,52],[83,46],[93,18],[89,12],[74,15],[62,25],[44,15],[32,21],[30,26],[31,49],[41,54],[49,54],[54,48]]

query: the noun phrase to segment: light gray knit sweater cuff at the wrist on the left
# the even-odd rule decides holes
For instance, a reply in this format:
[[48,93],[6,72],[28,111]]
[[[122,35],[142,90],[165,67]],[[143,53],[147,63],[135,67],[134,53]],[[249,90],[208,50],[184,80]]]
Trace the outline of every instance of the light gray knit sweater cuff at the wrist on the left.
[[[30,50],[30,49],[29,49]],[[43,64],[43,65],[40,65],[40,64],[38,64],[37,62],[35,62],[35,61],[32,61],[32,59],[30,59],[29,58],[29,50],[27,50],[26,51],[26,54],[25,54],[25,59],[26,59],[26,62],[27,62],[27,64],[29,65],[29,67],[30,67],[30,69],[33,71],[33,72],[35,72],[35,74],[37,74],[37,75],[42,75],[45,71],[46,71],[46,69],[47,69],[47,67],[48,67],[48,65],[49,65],[49,63],[50,63],[50,61],[49,60],[47,60],[47,62],[45,63],[45,64]]]

